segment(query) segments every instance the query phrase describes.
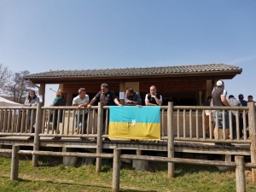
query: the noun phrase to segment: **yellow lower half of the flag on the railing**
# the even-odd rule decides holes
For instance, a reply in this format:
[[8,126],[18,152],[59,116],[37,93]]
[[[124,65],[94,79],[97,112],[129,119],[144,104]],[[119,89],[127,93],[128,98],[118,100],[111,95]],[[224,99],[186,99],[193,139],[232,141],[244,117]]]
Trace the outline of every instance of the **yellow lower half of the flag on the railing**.
[[160,140],[159,123],[109,122],[108,137],[124,139]]

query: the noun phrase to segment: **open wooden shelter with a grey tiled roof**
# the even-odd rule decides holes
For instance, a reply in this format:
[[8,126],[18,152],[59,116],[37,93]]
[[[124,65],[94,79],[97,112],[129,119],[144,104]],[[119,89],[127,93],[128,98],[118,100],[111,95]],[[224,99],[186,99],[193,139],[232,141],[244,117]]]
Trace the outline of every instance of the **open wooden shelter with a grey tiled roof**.
[[[24,79],[33,84],[40,84],[39,95],[44,98],[45,84],[60,84],[66,94],[67,105],[84,87],[90,99],[106,83],[117,96],[129,87],[140,93],[141,97],[155,85],[157,92],[163,96],[163,104],[174,102],[174,105],[201,105],[212,95],[212,88],[219,79],[233,79],[241,74],[242,69],[223,63],[169,67],[132,67],[112,69],[58,70],[29,74]],[[143,99],[144,100],[144,99]],[[44,100],[43,100],[44,101]],[[120,101],[124,103],[124,100]]]

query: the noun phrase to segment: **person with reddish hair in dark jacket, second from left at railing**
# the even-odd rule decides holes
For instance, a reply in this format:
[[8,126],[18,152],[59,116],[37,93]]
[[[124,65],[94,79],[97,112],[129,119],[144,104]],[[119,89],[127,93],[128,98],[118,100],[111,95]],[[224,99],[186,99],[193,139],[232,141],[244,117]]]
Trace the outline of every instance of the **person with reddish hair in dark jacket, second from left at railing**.
[[[65,99],[64,99],[64,95],[62,93],[61,90],[58,90],[56,92],[56,97],[55,97],[55,100],[54,102],[50,105],[50,106],[65,106],[66,105],[66,102],[65,102]],[[54,125],[53,125],[53,129],[56,131],[57,129],[57,123],[58,123],[58,109],[55,109],[55,122],[54,122]],[[54,113],[54,110],[51,110],[51,114],[50,114],[50,122],[53,122],[53,113]],[[62,123],[62,119],[63,119],[63,110],[60,110],[60,123]],[[61,137],[54,137],[53,138],[54,140],[59,140],[61,139]]]

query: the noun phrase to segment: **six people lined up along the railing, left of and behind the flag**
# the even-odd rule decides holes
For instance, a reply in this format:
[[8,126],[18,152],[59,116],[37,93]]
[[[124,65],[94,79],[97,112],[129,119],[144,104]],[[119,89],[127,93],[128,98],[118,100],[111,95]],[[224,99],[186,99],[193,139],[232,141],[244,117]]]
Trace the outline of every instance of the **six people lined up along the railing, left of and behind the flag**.
[[[162,96],[156,92],[156,87],[152,85],[150,87],[150,92],[145,96],[145,104],[147,106],[160,106],[162,105]],[[25,106],[36,106],[39,102],[39,98],[36,95],[34,90],[31,90],[26,98],[26,101],[24,103]],[[92,100],[90,100],[89,95],[86,94],[86,90],[84,88],[79,89],[79,95],[73,98],[72,106],[77,107],[77,111],[75,114],[75,132],[78,132],[79,127],[81,128],[79,133],[85,134],[86,133],[86,127],[87,127],[87,119],[88,119],[88,112],[96,102],[103,102],[104,106],[122,106],[122,104],[119,102],[119,99],[117,96],[115,96],[114,92],[112,90],[109,90],[108,84],[101,84],[101,90],[96,94],[96,96],[93,97]],[[51,106],[65,106],[66,102],[64,99],[64,95],[61,90],[58,90],[56,92],[56,97]],[[128,88],[125,91],[125,105],[127,106],[141,106],[142,105],[142,99],[139,93],[132,88]],[[55,115],[53,115],[54,110],[51,110],[50,113],[50,121],[55,122],[53,125],[54,130],[56,131],[57,127],[57,118],[58,118],[58,112],[59,110],[55,110]],[[63,110],[60,110],[60,119],[59,122],[62,121],[62,114]],[[29,114],[29,125],[35,124],[35,116],[33,118],[31,117],[32,113]],[[34,114],[33,114],[34,115]],[[103,111],[103,125],[102,125],[102,131],[105,132],[106,127],[106,111]],[[55,117],[55,120],[53,120],[53,117]],[[33,122],[31,122],[31,119]],[[32,132],[34,132],[34,127],[32,128]],[[54,140],[58,140],[61,137],[54,137]],[[33,140],[33,137],[29,137],[29,140]],[[88,140],[86,137],[81,137],[81,140]],[[109,138],[105,138],[105,141],[110,141]]]

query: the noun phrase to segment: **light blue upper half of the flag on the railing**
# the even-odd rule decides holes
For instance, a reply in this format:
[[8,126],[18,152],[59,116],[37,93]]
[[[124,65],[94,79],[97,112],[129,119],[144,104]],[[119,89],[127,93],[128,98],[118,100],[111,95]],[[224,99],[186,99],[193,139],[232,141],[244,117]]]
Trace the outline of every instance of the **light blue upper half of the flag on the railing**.
[[160,123],[160,106],[109,106],[110,122]]

